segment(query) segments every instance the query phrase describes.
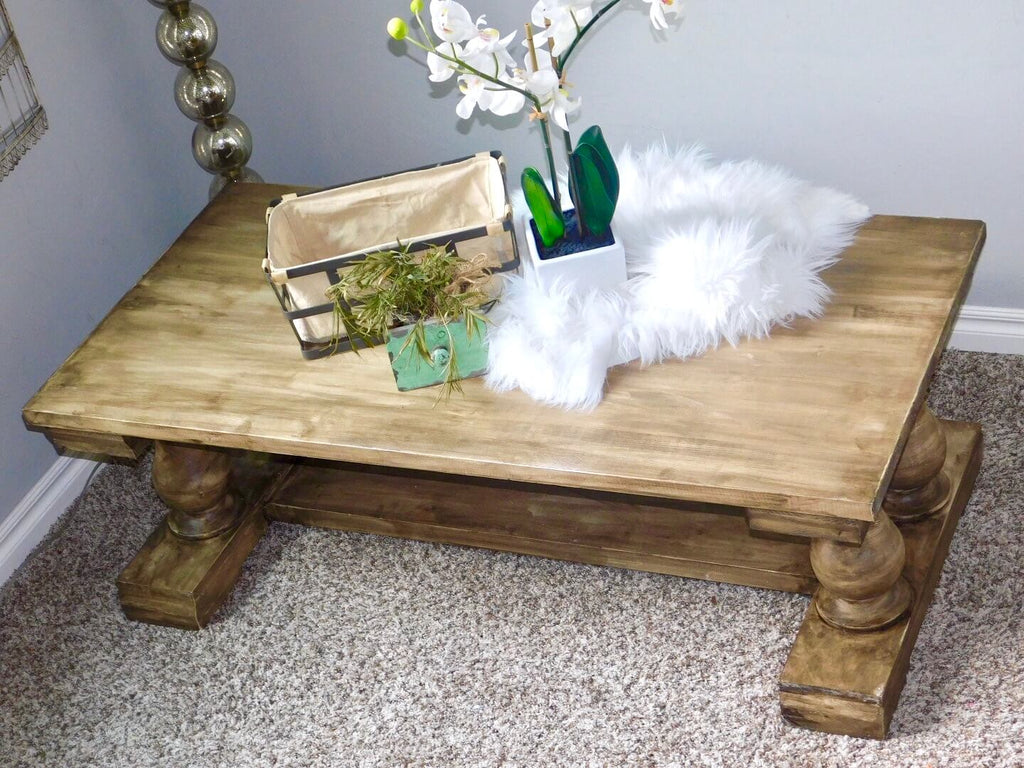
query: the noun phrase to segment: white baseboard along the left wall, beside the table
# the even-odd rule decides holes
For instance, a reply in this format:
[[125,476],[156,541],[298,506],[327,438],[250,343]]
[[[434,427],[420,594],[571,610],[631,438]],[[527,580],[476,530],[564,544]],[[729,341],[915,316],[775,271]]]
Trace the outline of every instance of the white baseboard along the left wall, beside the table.
[[0,585],[25,562],[88,482],[96,462],[61,456],[0,523]]

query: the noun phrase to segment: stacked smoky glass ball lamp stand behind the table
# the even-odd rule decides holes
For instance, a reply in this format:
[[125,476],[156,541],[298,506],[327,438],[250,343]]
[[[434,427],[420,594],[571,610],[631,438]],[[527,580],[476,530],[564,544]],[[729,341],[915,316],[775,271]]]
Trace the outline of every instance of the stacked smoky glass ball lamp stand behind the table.
[[157,22],[157,47],[181,67],[174,80],[174,102],[198,125],[193,131],[193,157],[200,168],[214,174],[210,198],[225,184],[262,181],[246,167],[253,152],[249,127],[230,114],[234,78],[210,58],[217,47],[217,25],[210,11],[188,0],[150,0],[163,8]]

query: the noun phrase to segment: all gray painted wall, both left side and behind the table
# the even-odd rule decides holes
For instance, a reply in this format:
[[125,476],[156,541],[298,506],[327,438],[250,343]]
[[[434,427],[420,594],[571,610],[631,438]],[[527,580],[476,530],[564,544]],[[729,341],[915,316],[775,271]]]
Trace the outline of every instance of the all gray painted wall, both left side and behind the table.
[[[531,0],[469,3],[503,31]],[[205,200],[145,0],[7,0],[51,128],[0,183],[0,517],[53,461],[19,410]],[[455,115],[384,34],[407,0],[207,0],[253,167],[336,184],[479,150],[514,175],[536,128]],[[1024,6],[1019,0],[690,0],[654,35],[639,0],[581,50],[577,127],[757,157],[873,210],[985,219],[969,303],[1024,307]]]

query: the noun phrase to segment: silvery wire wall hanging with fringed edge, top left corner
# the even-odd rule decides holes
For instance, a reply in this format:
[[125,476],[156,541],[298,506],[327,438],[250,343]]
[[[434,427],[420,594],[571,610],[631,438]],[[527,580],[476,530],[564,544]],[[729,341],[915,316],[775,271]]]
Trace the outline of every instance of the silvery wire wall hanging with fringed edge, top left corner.
[[0,179],[14,170],[46,128],[46,113],[0,0]]

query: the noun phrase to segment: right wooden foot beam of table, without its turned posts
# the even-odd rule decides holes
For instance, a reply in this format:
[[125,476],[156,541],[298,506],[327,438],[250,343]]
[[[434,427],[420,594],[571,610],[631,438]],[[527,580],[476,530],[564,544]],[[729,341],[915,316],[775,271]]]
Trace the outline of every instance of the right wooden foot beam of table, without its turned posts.
[[782,716],[790,722],[829,733],[886,737],[910,652],[981,464],[980,427],[961,422],[943,422],[943,427],[949,499],[931,517],[900,525],[906,544],[903,574],[914,592],[909,614],[881,631],[851,632],[829,627],[811,604],[779,681]]

